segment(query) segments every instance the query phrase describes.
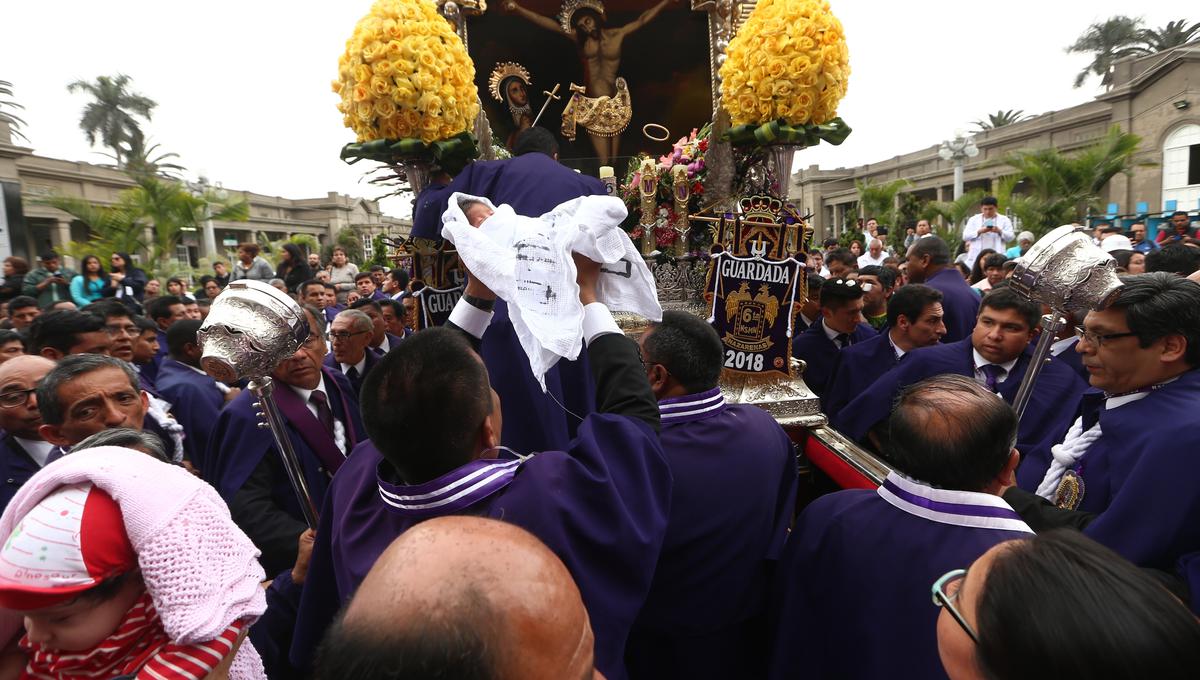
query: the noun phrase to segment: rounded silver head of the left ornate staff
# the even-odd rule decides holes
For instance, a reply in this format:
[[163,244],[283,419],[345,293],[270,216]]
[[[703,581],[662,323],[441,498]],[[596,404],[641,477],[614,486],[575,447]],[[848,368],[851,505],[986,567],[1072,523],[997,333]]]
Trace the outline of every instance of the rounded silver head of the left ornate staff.
[[200,366],[222,383],[264,378],[308,339],[304,309],[260,281],[235,281],[200,326]]

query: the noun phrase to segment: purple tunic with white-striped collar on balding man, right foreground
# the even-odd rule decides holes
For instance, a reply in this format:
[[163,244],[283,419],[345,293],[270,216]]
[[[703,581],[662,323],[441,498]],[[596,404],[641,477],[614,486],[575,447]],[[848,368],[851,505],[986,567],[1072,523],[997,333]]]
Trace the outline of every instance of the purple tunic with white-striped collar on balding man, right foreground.
[[996,543],[1032,536],[1000,497],[892,473],[800,514],[772,591],[772,679],[946,678],[931,586]]

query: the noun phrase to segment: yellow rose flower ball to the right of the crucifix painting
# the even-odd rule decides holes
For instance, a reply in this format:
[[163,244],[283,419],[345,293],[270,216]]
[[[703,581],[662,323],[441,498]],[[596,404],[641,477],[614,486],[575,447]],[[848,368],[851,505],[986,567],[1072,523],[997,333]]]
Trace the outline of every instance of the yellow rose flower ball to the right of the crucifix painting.
[[760,0],[721,66],[721,104],[733,125],[821,125],[838,115],[850,50],[827,0]]

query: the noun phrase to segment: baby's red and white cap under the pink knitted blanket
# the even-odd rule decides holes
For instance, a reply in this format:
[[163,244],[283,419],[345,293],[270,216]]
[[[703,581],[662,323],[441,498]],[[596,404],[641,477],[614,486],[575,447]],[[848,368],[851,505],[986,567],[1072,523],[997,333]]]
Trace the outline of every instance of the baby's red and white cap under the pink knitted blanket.
[[0,607],[61,604],[137,566],[116,501],[90,482],[62,486],[30,509],[0,548]]

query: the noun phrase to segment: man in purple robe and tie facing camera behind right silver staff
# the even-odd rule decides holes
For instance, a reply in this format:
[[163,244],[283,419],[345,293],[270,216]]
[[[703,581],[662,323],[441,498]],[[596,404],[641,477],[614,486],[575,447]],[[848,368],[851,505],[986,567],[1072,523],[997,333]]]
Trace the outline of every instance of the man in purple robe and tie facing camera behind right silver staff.
[[[876,449],[886,451],[880,441],[886,439],[887,431],[876,426],[886,425],[893,399],[908,385],[942,373],[973,378],[1012,403],[1030,366],[1030,339],[1040,317],[1040,306],[1008,287],[989,291],[971,336],[914,349],[851,399],[833,419],[834,427],[851,439],[874,443]],[[1086,387],[1075,372],[1057,360],[1042,369],[1019,427],[1016,447],[1022,462],[1016,481],[1022,488],[1036,487],[1050,467],[1050,446],[1067,432]]]

